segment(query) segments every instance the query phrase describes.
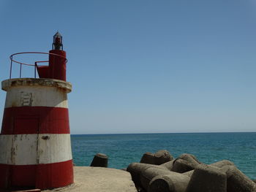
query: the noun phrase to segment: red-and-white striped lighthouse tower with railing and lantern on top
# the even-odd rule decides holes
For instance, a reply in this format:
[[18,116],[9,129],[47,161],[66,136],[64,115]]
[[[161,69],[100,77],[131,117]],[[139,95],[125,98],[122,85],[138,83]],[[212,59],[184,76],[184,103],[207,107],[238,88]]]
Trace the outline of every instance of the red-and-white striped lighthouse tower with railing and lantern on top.
[[[34,53],[34,52],[31,52]],[[32,65],[34,78],[21,78],[23,64],[11,56],[10,79],[0,134],[0,189],[60,188],[73,183],[66,82],[66,53],[61,34],[53,37],[48,65]],[[45,61],[44,61],[45,62]],[[11,78],[12,64],[20,78]],[[36,71],[39,78],[36,78]]]

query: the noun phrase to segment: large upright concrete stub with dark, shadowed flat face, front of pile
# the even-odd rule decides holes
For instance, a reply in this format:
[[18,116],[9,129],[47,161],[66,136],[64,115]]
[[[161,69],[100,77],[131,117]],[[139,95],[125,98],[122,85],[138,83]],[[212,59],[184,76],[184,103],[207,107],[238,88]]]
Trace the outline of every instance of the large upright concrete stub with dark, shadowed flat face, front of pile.
[[227,192],[227,175],[215,166],[200,164],[195,168],[186,192]]

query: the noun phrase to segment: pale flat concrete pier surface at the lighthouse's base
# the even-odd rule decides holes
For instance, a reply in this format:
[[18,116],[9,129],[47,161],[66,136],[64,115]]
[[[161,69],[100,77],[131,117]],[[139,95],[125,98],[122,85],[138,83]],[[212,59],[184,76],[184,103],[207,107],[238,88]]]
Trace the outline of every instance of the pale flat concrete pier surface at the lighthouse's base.
[[129,172],[123,170],[92,166],[74,166],[74,176],[74,184],[65,188],[45,190],[44,192],[137,192],[131,175]]

